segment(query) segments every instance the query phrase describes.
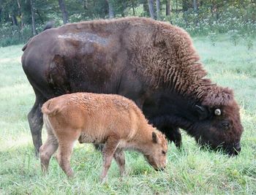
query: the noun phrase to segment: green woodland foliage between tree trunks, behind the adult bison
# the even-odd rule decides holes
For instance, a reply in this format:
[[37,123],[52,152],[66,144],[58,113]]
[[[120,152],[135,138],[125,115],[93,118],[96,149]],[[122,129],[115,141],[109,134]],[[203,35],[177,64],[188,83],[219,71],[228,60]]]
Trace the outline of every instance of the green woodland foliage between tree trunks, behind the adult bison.
[[[149,16],[147,0],[69,0],[64,1],[69,22],[108,18],[108,2],[113,5],[116,16]],[[166,0],[160,1],[160,19],[185,28],[192,36],[204,35],[214,41],[214,34],[229,34],[230,41],[237,45],[239,39],[252,48],[256,36],[256,3],[249,0],[197,1],[197,11],[192,0],[170,1],[172,11],[165,15]],[[154,5],[156,6],[156,5]],[[35,0],[37,32],[49,20],[56,26],[62,24],[58,1]],[[155,9],[156,7],[154,7]],[[26,42],[32,34],[30,1],[0,0],[0,47]],[[24,33],[25,32],[25,33]],[[213,43],[214,44],[214,43]]]

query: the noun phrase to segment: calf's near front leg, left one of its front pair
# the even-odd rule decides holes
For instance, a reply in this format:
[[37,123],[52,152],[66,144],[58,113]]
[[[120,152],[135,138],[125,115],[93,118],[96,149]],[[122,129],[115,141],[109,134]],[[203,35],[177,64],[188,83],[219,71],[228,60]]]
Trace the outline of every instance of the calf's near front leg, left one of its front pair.
[[105,142],[104,148],[102,150],[103,155],[103,169],[102,175],[100,177],[101,181],[103,181],[108,173],[108,169],[110,168],[111,161],[113,159],[113,155],[116,151],[118,146],[119,139],[116,136],[108,137],[107,141]]

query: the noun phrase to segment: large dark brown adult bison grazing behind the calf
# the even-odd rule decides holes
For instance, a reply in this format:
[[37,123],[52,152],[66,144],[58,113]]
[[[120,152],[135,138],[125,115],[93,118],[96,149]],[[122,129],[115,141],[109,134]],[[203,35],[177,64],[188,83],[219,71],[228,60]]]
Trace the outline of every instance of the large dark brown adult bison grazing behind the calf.
[[23,70],[36,100],[29,126],[42,145],[41,106],[64,93],[117,93],[135,101],[148,120],[181,145],[178,128],[202,145],[241,150],[233,91],[204,78],[187,32],[148,18],[94,20],[50,28],[23,47]]

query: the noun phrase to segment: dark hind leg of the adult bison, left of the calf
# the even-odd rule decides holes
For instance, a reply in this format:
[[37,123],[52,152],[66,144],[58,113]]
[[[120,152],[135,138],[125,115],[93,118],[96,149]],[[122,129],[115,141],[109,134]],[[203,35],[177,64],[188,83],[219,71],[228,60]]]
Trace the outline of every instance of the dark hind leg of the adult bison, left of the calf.
[[32,134],[32,139],[34,143],[35,153],[38,157],[39,148],[42,145],[42,112],[41,112],[42,102],[36,97],[34,106],[28,115],[29,127]]

